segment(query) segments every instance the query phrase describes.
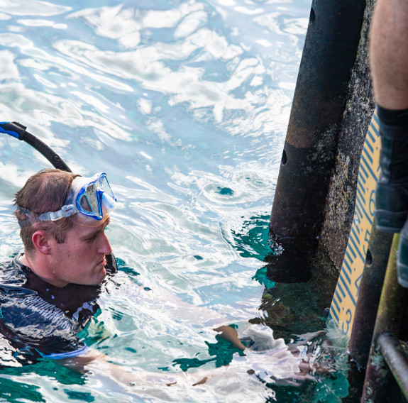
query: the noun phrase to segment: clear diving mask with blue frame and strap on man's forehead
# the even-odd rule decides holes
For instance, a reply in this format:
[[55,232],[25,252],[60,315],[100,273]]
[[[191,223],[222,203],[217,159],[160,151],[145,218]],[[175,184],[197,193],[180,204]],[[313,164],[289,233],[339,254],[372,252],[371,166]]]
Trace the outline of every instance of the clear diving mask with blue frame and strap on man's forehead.
[[116,209],[117,204],[105,173],[98,173],[90,178],[76,177],[72,181],[64,206],[59,210],[35,214],[19,206],[28,219],[18,220],[18,223],[23,227],[37,221],[57,221],[63,217],[72,217],[80,225],[99,226],[109,217],[110,212]]

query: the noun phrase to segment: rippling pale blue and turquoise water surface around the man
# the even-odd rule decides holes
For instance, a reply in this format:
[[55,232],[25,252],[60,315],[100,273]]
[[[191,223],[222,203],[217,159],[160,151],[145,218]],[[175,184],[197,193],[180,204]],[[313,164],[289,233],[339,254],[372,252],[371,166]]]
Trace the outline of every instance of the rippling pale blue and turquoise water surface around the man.
[[[263,317],[260,299],[274,286],[263,271],[268,219],[309,9],[309,0],[0,2],[0,121],[28,126],[74,172],[106,172],[120,202],[108,236],[121,272],[82,333],[112,363],[165,375],[214,370],[233,355],[214,324]],[[13,194],[49,164],[8,136],[0,155],[4,259],[21,248]],[[347,394],[341,372],[266,387],[239,372],[237,356],[236,377],[164,392],[129,391],[44,360],[4,370],[0,401]]]

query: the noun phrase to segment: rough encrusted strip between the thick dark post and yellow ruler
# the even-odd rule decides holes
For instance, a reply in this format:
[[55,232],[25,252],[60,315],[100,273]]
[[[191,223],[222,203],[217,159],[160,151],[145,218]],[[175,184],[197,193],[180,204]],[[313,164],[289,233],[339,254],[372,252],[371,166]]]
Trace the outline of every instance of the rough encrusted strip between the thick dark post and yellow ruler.
[[327,251],[338,271],[341,270],[353,222],[360,155],[375,108],[368,57],[368,33],[374,4],[374,0],[366,1],[320,236],[321,247]]

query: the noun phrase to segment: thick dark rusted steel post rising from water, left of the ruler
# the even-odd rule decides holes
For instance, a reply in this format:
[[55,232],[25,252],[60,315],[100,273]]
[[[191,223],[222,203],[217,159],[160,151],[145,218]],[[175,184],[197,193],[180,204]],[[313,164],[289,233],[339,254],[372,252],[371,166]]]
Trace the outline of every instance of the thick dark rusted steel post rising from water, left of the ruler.
[[270,222],[277,238],[310,241],[309,250],[324,220],[364,9],[364,0],[311,5]]

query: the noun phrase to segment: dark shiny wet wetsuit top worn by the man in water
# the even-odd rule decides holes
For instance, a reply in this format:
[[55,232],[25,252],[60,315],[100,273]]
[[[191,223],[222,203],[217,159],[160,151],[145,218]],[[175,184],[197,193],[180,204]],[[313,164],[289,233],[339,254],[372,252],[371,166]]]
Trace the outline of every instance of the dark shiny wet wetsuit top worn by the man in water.
[[[8,341],[20,351],[21,363],[28,356],[33,361],[40,355],[66,358],[84,353],[87,347],[77,333],[99,309],[97,297],[104,282],[58,288],[41,280],[20,258],[16,255],[0,265],[0,333],[6,339],[0,344]],[[106,272],[116,272],[114,256],[106,259],[111,263]]]

